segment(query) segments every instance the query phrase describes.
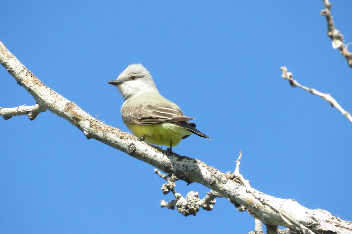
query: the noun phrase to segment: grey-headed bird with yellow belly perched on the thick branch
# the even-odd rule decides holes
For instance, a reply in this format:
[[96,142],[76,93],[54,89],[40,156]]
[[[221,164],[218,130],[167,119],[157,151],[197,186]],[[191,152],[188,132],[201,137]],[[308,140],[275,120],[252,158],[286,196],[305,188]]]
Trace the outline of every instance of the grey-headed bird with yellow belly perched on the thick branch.
[[129,65],[116,80],[107,83],[117,86],[125,102],[121,106],[122,120],[131,132],[153,145],[177,146],[181,139],[198,131],[175,103],[159,94],[152,76],[142,64]]

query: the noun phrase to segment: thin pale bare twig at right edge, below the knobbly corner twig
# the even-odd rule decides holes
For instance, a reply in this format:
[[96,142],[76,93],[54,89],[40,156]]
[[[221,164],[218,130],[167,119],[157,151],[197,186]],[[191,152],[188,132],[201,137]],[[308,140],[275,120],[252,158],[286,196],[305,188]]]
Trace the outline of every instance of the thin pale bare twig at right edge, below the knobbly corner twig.
[[336,107],[336,109],[338,109],[352,123],[352,116],[351,116],[350,112],[345,111],[339,105],[339,103],[337,103],[337,101],[335,99],[333,99],[333,97],[330,94],[321,93],[319,91],[316,91],[314,88],[308,88],[303,85],[300,85],[300,83],[298,83],[296,80],[293,79],[293,74],[291,72],[287,72],[286,67],[281,67],[281,71],[282,71],[282,78],[288,80],[290,82],[291,87],[294,88],[297,86],[297,87],[300,87],[301,89],[304,89],[305,91],[308,91],[311,94],[320,96],[322,99],[328,101],[330,103],[331,107]]

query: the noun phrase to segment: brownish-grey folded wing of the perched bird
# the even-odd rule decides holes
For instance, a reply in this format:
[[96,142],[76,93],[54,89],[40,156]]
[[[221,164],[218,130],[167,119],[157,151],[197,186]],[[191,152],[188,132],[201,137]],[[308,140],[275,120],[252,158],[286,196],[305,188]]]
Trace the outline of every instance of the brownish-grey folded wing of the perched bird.
[[176,104],[166,99],[159,99],[152,103],[143,99],[126,101],[121,107],[121,116],[125,123],[138,125],[172,123],[194,119],[185,116]]

